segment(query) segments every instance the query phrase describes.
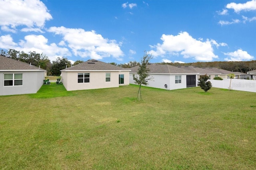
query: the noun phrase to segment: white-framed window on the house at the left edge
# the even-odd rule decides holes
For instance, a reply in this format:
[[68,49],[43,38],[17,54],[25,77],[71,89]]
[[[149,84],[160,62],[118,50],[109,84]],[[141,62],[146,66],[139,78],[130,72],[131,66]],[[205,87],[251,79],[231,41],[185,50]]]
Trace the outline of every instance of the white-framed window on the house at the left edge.
[[22,86],[22,73],[4,74],[4,86]]

